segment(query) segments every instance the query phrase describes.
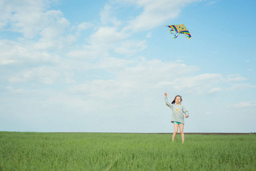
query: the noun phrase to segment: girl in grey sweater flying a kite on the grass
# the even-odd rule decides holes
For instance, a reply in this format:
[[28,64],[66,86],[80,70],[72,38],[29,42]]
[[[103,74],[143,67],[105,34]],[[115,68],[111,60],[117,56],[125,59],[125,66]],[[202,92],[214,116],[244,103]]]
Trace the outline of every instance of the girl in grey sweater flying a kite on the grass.
[[[172,109],[172,119],[170,120],[174,124],[174,132],[172,135],[172,141],[174,141],[176,134],[178,133],[178,127],[180,127],[180,135],[182,143],[184,143],[184,114],[185,117],[189,117],[189,112],[186,110],[184,105],[181,104],[181,96],[176,96],[172,101],[172,104],[169,103],[167,98],[167,93],[165,95],[165,103]],[[176,103],[176,104],[175,104]]]

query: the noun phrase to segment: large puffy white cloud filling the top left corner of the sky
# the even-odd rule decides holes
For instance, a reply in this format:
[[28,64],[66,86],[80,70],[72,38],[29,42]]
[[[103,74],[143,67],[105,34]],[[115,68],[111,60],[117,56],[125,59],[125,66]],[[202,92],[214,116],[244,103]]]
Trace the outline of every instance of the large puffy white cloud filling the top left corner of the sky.
[[[70,22],[59,10],[47,10],[53,1],[3,1],[0,6],[2,30],[21,32],[24,40],[35,40],[32,46],[38,50],[64,48],[79,37],[79,31],[91,27],[81,23],[75,35],[66,34]],[[1,26],[0,26],[1,29]]]

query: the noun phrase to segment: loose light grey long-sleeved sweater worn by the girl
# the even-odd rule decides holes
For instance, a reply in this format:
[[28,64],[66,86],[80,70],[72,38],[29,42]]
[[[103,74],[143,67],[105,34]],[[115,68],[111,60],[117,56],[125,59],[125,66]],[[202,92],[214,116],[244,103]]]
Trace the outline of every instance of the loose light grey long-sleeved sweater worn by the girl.
[[170,120],[172,123],[174,121],[184,124],[184,114],[189,116],[189,112],[186,110],[185,106],[180,104],[171,104],[168,101],[168,98],[165,97],[165,103],[172,109],[172,119]]

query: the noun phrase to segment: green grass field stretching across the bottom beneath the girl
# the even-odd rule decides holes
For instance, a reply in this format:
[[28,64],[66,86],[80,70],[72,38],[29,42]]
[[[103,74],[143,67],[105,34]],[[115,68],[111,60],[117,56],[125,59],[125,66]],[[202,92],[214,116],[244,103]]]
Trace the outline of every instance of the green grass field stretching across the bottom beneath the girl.
[[256,135],[0,132],[0,170],[256,170]]

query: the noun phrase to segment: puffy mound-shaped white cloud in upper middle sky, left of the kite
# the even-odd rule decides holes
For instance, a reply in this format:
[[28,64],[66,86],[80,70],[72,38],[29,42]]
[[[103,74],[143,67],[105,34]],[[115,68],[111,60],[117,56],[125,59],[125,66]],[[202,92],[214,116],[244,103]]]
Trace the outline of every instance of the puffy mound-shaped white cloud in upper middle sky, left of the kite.
[[129,34],[117,27],[99,27],[88,39],[89,44],[67,53],[72,58],[96,59],[109,56],[109,51],[122,55],[134,55],[147,46],[145,40],[128,40]]

